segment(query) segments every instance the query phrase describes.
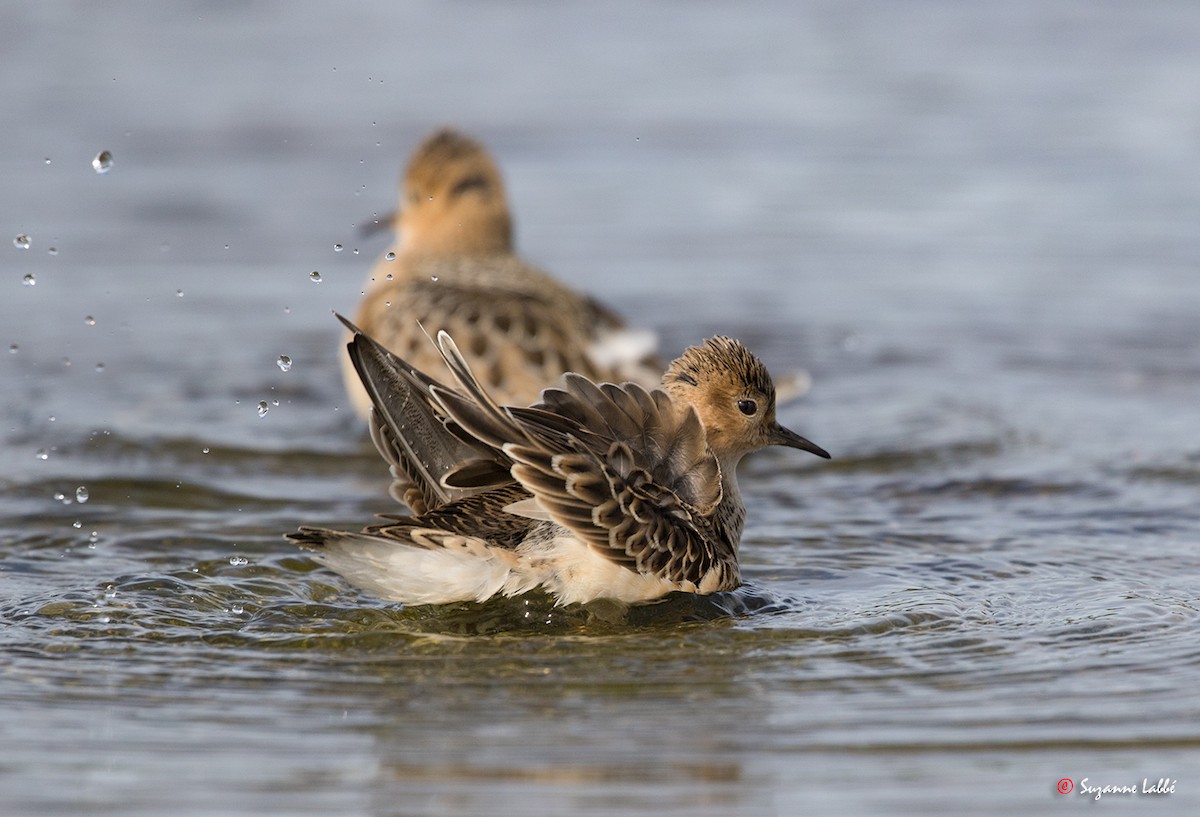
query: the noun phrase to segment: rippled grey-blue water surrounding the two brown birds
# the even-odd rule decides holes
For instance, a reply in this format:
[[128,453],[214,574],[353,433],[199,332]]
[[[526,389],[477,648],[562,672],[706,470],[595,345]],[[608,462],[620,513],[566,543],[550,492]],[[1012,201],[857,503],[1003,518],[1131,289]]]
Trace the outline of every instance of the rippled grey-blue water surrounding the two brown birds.
[[[1184,2],[6,6],[0,811],[1195,813],[1198,42]],[[732,614],[403,609],[282,541],[390,510],[330,311],[442,124],[666,354],[812,373],[781,416],[835,459],[744,463]]]

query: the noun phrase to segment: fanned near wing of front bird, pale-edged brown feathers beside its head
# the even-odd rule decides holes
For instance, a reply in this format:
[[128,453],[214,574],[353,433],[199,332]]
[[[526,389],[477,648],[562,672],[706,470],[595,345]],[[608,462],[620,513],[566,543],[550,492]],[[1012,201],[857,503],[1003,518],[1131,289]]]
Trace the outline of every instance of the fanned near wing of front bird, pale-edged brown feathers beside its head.
[[551,518],[641,573],[697,588],[737,584],[733,543],[718,530],[720,467],[690,406],[636,384],[568,374],[540,403],[503,408],[448,335],[438,344],[462,394],[431,391],[458,426],[509,457],[536,505],[512,510]]

